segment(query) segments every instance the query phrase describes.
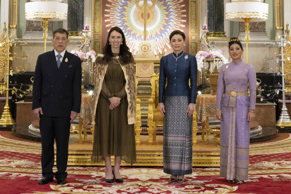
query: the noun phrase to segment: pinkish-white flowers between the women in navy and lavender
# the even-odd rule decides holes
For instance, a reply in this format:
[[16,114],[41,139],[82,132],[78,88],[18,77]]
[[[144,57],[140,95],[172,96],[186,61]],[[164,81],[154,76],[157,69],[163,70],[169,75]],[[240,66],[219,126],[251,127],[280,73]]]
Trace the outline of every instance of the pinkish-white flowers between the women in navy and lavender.
[[222,55],[222,51],[219,49],[210,52],[200,50],[196,54],[197,68],[199,71],[201,71],[201,68],[204,68],[203,63],[205,62],[206,58],[219,59],[222,64],[228,63],[228,60]]

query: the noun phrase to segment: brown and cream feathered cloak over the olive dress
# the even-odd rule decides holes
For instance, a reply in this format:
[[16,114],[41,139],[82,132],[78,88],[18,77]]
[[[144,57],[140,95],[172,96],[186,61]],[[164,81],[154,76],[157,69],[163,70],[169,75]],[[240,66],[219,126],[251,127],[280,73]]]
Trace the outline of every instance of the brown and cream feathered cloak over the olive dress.
[[[98,104],[98,98],[101,92],[103,80],[108,68],[108,63],[102,60],[103,54],[98,54],[95,61],[95,87],[93,93],[93,105],[92,116],[93,123],[95,122],[96,109]],[[123,64],[121,68],[124,72],[126,79],[125,90],[127,93],[128,107],[128,124],[136,123],[136,83],[135,83],[135,68],[133,63]]]

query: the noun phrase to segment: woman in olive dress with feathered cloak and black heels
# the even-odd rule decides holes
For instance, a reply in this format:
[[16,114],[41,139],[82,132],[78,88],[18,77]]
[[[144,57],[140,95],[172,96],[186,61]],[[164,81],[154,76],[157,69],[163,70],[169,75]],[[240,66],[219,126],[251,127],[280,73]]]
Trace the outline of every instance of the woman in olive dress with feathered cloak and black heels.
[[[93,117],[95,132],[92,161],[105,161],[105,181],[123,183],[121,160],[136,162],[134,123],[136,122],[134,58],[123,31],[109,31],[103,54],[98,54],[95,69]],[[111,156],[115,156],[114,168]]]

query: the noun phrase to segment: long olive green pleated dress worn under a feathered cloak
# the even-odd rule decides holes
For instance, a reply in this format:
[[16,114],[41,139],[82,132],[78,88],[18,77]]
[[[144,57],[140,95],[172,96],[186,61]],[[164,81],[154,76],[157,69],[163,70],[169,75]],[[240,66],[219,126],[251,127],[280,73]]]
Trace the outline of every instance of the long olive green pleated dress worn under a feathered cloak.
[[[118,54],[114,53],[114,56]],[[128,100],[125,91],[126,80],[120,64],[111,60],[104,77],[98,99],[92,161],[101,162],[110,155],[121,156],[128,163],[136,162],[134,125],[128,125]],[[121,98],[121,103],[109,109],[109,98]]]

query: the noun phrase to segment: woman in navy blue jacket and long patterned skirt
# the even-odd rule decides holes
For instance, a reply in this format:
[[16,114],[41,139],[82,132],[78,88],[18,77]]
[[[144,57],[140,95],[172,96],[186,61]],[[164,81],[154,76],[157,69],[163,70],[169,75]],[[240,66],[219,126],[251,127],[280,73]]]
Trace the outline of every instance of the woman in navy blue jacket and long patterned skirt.
[[[170,182],[182,183],[192,173],[192,114],[196,102],[197,62],[185,53],[185,34],[170,36],[173,52],[160,60],[159,111],[163,116],[163,171]],[[190,86],[189,86],[190,79]]]

